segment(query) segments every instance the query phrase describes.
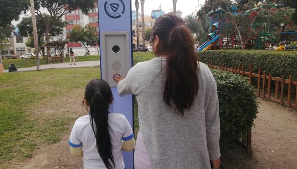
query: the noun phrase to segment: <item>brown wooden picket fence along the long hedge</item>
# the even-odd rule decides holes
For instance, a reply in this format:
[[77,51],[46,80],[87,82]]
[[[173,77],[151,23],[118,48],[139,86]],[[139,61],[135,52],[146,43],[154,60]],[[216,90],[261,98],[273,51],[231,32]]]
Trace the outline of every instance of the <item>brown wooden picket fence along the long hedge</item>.
[[[249,65],[248,72],[244,71],[244,65],[227,68],[221,64],[220,66],[214,66],[211,61],[207,62],[207,65],[209,68],[248,76],[251,84],[252,78],[256,78],[258,97],[271,100],[297,110],[297,81],[293,81],[291,75],[289,75],[288,79],[285,79],[284,76],[282,78],[272,77],[270,74],[266,74],[265,71],[261,74],[261,68],[258,69],[258,73],[252,73],[252,65]],[[293,90],[295,90],[295,94],[292,93]]]

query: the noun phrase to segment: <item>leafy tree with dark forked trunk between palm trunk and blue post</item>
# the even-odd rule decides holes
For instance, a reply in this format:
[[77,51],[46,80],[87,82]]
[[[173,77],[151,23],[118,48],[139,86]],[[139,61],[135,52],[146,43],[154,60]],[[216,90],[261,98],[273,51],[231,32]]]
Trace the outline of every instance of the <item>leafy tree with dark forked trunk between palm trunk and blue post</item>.
[[[46,25],[46,42],[50,42],[50,32],[62,16],[80,9],[83,14],[88,14],[91,8],[94,8],[96,0],[35,0],[36,14],[43,20]],[[49,19],[45,18],[45,14],[41,11],[47,9],[50,14]],[[50,48],[47,48],[47,62],[50,56]]]

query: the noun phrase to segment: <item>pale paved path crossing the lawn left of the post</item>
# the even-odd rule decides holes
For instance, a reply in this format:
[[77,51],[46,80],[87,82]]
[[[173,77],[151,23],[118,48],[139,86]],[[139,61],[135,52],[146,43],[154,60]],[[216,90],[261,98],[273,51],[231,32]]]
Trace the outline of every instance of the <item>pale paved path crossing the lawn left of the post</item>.
[[[100,66],[100,61],[95,60],[95,61],[79,61],[76,62],[76,65],[69,65],[69,62],[64,62],[61,64],[48,64],[48,65],[40,65],[40,70],[43,69],[57,69],[57,68],[81,68],[81,67],[95,67],[95,66]],[[24,72],[24,71],[32,71],[36,70],[36,66],[33,66],[31,68],[18,68],[18,72]],[[8,70],[4,70],[4,73],[7,73]]]

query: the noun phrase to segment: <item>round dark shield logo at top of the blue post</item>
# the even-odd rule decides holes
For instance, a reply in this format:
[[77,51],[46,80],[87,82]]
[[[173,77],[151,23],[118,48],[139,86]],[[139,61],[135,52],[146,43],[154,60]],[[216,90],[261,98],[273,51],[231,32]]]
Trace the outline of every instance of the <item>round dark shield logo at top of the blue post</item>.
[[108,0],[104,4],[105,13],[111,18],[119,18],[125,13],[125,4],[122,0]]

